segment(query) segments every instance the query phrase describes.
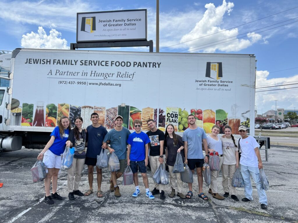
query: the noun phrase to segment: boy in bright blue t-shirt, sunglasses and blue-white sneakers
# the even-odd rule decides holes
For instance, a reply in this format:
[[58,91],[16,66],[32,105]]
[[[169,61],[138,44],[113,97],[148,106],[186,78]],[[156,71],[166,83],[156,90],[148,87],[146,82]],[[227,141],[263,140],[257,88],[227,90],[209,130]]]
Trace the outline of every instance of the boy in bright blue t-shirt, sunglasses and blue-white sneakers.
[[154,199],[154,196],[149,190],[149,183],[147,177],[146,167],[148,165],[148,143],[150,139],[147,134],[141,131],[142,121],[139,119],[134,120],[135,132],[130,134],[127,139],[127,165],[130,166],[134,173],[134,185],[136,191],[132,194],[133,197],[138,197],[140,194],[138,169],[143,177],[143,182],[146,188],[146,196],[149,199]]

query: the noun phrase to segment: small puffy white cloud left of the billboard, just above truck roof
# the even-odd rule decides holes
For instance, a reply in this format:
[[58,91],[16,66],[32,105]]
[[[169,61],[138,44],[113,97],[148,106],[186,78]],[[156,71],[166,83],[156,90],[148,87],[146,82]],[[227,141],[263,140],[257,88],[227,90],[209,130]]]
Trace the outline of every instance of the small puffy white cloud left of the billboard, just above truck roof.
[[23,48],[39,48],[39,49],[69,49],[67,41],[61,39],[61,33],[56,29],[51,29],[47,35],[42,26],[38,27],[38,32],[27,33],[22,36],[21,46]]

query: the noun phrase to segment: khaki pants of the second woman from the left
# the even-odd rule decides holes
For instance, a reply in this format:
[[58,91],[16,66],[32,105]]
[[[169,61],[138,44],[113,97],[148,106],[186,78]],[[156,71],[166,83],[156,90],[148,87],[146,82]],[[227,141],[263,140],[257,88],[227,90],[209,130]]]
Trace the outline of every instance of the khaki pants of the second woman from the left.
[[74,158],[72,168],[67,170],[67,187],[68,192],[77,191],[81,180],[81,173],[84,167],[85,159]]

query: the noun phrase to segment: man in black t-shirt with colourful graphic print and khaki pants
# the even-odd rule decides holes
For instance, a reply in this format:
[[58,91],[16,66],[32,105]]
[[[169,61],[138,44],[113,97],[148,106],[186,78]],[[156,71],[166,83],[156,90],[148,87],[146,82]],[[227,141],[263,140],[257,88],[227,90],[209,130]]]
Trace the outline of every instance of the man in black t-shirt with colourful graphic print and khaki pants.
[[[150,128],[150,131],[147,132],[147,135],[150,139],[150,167],[152,175],[156,172],[159,165],[163,165],[165,168],[165,151],[164,151],[164,133],[163,131],[156,128],[156,123],[154,120],[149,119],[147,124]],[[151,191],[153,195],[160,193],[160,199],[164,200],[164,185],[162,184],[154,184],[154,189]]]

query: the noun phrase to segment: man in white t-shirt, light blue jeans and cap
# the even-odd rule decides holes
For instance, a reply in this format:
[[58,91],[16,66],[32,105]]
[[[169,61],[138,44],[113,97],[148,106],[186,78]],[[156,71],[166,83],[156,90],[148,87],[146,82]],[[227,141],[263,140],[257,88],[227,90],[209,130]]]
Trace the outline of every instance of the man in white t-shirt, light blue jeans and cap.
[[238,131],[240,133],[240,136],[242,137],[239,142],[241,151],[240,164],[241,174],[245,184],[245,197],[242,199],[242,201],[252,201],[252,182],[250,180],[251,175],[257,187],[261,208],[267,209],[267,196],[261,185],[259,171],[259,169],[263,168],[259,150],[260,145],[257,143],[254,137],[247,135],[246,126],[241,125],[238,128]]

